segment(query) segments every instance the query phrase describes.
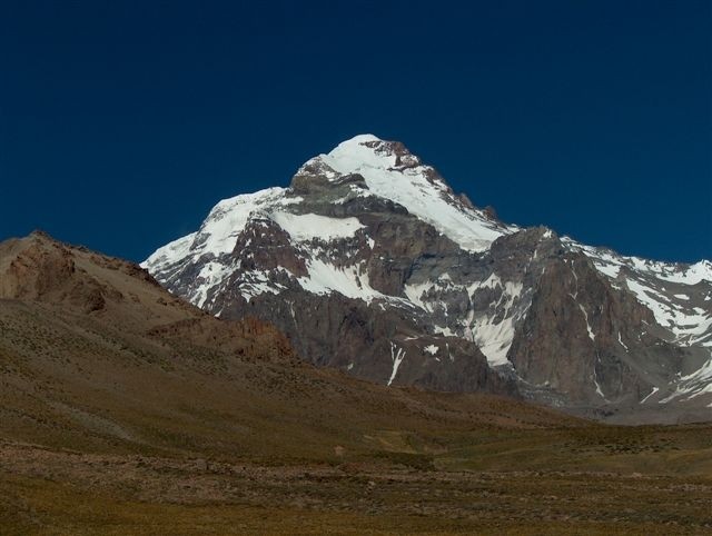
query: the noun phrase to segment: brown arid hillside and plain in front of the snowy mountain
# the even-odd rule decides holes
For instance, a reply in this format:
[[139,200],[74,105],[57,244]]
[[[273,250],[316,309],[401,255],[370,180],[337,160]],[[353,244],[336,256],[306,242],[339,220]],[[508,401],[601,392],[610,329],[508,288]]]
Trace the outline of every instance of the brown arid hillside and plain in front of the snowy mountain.
[[712,425],[385,387],[136,265],[0,244],[1,534],[706,534]]

